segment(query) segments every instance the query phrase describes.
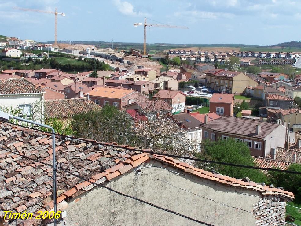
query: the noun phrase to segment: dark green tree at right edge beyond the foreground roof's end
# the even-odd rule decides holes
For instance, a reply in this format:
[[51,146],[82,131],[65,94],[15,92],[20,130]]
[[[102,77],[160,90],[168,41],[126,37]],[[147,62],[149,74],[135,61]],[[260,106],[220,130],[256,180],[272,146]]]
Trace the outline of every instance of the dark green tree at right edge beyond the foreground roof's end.
[[[300,164],[291,164],[287,170],[301,172]],[[301,201],[301,175],[290,174],[283,172],[270,171],[269,172],[270,182],[275,187],[283,187],[284,190],[291,191],[295,195],[297,202]]]

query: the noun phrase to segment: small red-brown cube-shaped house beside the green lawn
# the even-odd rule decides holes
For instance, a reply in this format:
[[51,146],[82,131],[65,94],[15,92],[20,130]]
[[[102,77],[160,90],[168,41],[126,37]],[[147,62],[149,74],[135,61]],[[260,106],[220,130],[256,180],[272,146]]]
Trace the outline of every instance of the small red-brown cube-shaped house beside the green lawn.
[[209,112],[215,112],[218,115],[233,116],[234,94],[214,93],[209,100]]

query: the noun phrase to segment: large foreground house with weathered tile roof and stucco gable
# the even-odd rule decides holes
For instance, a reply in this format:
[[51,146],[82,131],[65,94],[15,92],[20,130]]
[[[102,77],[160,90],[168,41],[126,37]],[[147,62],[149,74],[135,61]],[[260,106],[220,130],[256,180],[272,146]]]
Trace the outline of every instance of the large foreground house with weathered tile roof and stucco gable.
[[[34,216],[40,209],[50,212],[53,209],[52,135],[36,130],[29,132],[9,123],[0,125],[2,168],[5,168],[0,172],[6,175],[2,180],[2,209],[26,211]],[[115,142],[57,135],[56,149],[60,163],[56,173],[57,209],[67,213],[61,219],[63,225],[196,224],[166,212],[167,209],[212,225],[273,224],[274,219],[285,224],[286,201],[294,198],[288,191],[211,173],[164,154],[149,154],[147,150]],[[13,154],[20,150],[26,153]],[[6,169],[11,170],[9,174]],[[154,195],[154,191],[160,192]],[[125,197],[125,193],[136,200]],[[178,197],[171,198],[172,194]],[[243,211],[246,209],[250,211]],[[36,217],[1,219],[5,226],[47,222],[49,219]]]

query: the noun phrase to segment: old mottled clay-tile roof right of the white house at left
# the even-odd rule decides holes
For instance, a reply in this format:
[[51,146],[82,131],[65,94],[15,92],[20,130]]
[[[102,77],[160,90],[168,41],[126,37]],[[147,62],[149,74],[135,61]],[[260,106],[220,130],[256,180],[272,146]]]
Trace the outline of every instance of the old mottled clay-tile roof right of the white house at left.
[[45,101],[46,118],[67,118],[73,115],[100,109],[99,105],[87,98],[72,98]]

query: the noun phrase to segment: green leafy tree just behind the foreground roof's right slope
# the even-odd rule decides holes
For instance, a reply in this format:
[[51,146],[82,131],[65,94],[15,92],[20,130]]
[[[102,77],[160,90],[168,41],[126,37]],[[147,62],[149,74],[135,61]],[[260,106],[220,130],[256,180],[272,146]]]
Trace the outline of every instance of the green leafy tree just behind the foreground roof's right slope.
[[[196,157],[212,161],[254,166],[254,159],[251,157],[249,147],[246,143],[235,141],[233,138],[226,140],[219,139],[218,141],[206,139],[202,144],[202,152],[197,153]],[[230,177],[249,177],[250,180],[255,182],[267,181],[266,176],[256,169],[237,168],[211,163],[202,164],[198,167],[205,170],[214,169],[215,171]]]

